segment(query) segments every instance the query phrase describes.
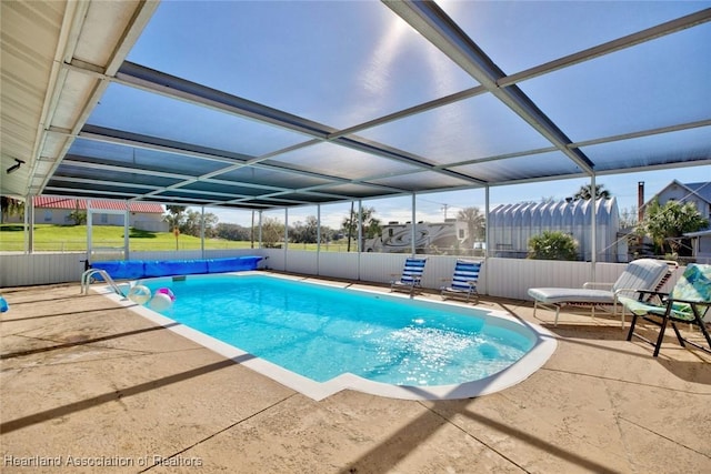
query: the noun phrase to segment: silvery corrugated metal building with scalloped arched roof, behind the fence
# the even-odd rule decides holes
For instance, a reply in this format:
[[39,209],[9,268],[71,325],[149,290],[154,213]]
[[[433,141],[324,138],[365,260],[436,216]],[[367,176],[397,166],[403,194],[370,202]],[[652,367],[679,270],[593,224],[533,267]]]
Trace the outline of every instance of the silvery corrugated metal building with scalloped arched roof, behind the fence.
[[618,202],[592,200],[502,204],[494,208],[488,220],[490,249],[495,256],[525,258],[529,240],[543,231],[571,234],[578,242],[579,259],[591,260],[591,213],[595,214],[595,249],[599,262],[627,261],[627,244],[618,242],[620,214]]

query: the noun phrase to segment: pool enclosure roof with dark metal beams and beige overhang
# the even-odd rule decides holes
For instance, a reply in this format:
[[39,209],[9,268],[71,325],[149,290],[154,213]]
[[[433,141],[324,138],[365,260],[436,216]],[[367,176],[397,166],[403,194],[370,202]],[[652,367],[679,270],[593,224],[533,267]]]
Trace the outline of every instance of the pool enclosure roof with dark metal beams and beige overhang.
[[[260,210],[711,164],[711,103],[705,117],[695,120],[575,142],[520,87],[688,29],[708,31],[709,8],[507,75],[437,3],[384,1],[382,8],[403,19],[475,83],[339,128],[127,61],[158,4],[2,2],[2,195],[72,195]],[[704,53],[701,48],[694,59],[705,62],[707,68],[710,49],[707,44]],[[708,81],[708,74],[690,80]],[[287,131],[296,139],[261,153],[244,153],[89,123],[110,84],[249,120],[269,130]],[[485,155],[453,153],[442,159],[407,151],[389,142],[387,135],[368,138],[379,127],[397,125],[482,95],[518,115],[544,143]],[[710,95],[699,100],[709,101]],[[684,140],[684,132],[694,133],[694,139]],[[468,130],[462,130],[462,138],[465,133]],[[585,152],[671,133],[679,137],[671,153],[660,154],[653,143],[634,160],[595,159]],[[510,140],[507,133],[501,137]],[[555,160],[548,160],[551,155]],[[356,162],[363,164],[358,170],[349,168]],[[6,172],[18,163],[16,172]]]

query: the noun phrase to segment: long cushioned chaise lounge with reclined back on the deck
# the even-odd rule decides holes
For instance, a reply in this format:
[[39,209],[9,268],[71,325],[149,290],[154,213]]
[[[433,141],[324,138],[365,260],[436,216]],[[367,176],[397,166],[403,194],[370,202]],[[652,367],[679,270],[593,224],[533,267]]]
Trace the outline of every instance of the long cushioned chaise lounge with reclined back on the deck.
[[[614,283],[587,282],[580,289],[531,288],[529,296],[534,300],[533,317],[539,306],[555,310],[555,326],[558,326],[560,310],[565,306],[590,309],[592,317],[595,316],[595,309],[612,307],[612,314],[617,315],[618,299],[621,294],[634,295],[638,290],[659,291],[677,268],[677,262],[639,259],[630,262]],[[624,329],[624,312],[620,314],[622,329]]]

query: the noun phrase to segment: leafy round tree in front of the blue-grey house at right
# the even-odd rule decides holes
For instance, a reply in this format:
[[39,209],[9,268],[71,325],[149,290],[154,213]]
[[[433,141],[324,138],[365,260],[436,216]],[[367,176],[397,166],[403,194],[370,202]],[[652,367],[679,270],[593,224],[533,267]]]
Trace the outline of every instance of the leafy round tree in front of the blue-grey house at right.
[[669,250],[679,255],[682,235],[708,226],[709,221],[692,202],[669,201],[661,205],[654,200],[647,206],[644,219],[638,230],[652,239],[660,254]]

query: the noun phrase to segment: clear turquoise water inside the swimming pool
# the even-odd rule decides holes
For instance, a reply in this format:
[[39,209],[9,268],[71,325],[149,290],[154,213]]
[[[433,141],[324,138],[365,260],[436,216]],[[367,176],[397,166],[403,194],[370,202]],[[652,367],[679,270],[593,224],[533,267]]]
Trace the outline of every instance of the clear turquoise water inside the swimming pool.
[[481,310],[264,275],[140,283],[173,292],[166,316],[317,382],[348,372],[393,385],[477,381],[535,343]]

